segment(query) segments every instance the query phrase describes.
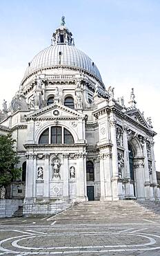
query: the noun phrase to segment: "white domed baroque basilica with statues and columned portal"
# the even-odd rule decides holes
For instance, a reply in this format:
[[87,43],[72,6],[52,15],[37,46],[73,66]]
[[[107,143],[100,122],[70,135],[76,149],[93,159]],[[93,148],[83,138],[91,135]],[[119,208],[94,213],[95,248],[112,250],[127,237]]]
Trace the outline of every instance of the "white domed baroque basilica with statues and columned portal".
[[23,214],[54,214],[79,201],[159,200],[150,118],[103,84],[93,60],[74,45],[64,17],[51,45],[28,67],[0,134],[12,134],[22,167],[12,197]]

